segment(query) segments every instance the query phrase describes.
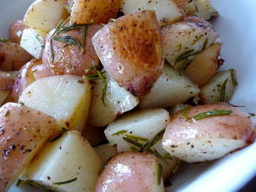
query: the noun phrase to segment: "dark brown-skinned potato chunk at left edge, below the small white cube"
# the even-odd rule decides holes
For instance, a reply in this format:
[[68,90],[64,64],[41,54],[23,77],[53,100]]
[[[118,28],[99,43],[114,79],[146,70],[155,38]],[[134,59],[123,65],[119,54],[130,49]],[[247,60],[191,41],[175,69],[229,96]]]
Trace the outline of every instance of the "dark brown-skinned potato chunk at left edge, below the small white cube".
[[0,42],[0,70],[19,70],[31,58],[31,55],[19,44]]

